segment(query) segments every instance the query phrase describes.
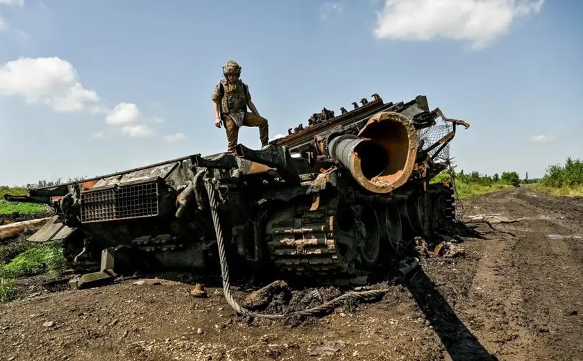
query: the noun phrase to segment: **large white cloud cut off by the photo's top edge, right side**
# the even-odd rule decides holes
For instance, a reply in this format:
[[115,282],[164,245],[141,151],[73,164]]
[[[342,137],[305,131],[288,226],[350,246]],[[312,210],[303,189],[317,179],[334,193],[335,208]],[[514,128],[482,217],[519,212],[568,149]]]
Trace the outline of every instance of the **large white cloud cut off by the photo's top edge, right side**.
[[375,36],[380,39],[468,40],[487,47],[509,32],[516,17],[537,14],[544,0],[385,0]]

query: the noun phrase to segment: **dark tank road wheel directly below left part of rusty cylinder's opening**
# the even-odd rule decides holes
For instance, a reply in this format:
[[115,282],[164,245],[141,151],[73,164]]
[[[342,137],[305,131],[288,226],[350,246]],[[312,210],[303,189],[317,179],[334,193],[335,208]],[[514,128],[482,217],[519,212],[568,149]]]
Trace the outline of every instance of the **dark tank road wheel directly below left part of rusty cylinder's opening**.
[[359,224],[357,237],[360,238],[359,253],[362,265],[365,268],[373,267],[380,255],[380,232],[377,215],[372,205],[362,206],[357,224]]

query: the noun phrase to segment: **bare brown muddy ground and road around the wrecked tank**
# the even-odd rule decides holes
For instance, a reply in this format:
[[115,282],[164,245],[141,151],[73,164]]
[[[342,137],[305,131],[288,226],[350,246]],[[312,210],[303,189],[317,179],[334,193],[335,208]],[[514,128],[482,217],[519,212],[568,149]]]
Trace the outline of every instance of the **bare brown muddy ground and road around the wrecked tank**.
[[465,217],[483,214],[520,220],[469,223],[481,237],[462,257],[422,258],[382,299],[299,324],[238,317],[220,287],[195,299],[189,274],[52,292],[27,280],[32,296],[0,305],[0,360],[583,360],[583,199],[464,201]]

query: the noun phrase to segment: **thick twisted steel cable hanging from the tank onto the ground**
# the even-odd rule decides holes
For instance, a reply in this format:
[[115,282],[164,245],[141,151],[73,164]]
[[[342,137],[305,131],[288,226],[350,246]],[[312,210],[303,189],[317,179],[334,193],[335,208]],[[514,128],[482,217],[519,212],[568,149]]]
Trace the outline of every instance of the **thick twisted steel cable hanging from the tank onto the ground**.
[[350,291],[346,294],[336,297],[326,303],[318,305],[314,308],[309,308],[307,310],[289,312],[287,314],[262,314],[257,312],[252,312],[242,307],[235,301],[233,295],[230,293],[230,280],[229,280],[229,267],[227,264],[227,257],[225,251],[225,244],[223,240],[223,230],[221,228],[221,221],[219,219],[219,203],[217,202],[216,190],[212,186],[210,180],[205,181],[205,188],[208,193],[208,199],[210,203],[210,212],[212,215],[212,223],[214,224],[214,231],[217,233],[217,246],[219,248],[219,260],[221,262],[221,276],[223,278],[223,293],[227,303],[237,312],[244,317],[260,317],[265,319],[283,319],[285,317],[309,317],[330,312],[337,308],[339,302],[344,301],[350,297],[356,300],[373,299],[376,297],[384,296],[389,292],[389,288],[383,289],[371,289],[368,291]]

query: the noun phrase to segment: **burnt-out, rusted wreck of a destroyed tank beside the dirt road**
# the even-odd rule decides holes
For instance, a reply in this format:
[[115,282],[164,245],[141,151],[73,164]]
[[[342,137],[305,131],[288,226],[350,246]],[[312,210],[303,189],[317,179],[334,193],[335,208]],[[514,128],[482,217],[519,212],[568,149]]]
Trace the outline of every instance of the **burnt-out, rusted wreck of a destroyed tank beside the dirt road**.
[[431,181],[456,127],[468,127],[425,96],[372,98],[339,115],[324,108],[261,150],[238,144],[6,200],[55,210],[29,240],[63,240],[71,266],[96,271],[78,287],[134,270],[216,269],[217,240],[242,271],[366,278],[414,236],[448,233],[453,188]]

